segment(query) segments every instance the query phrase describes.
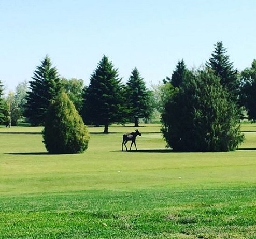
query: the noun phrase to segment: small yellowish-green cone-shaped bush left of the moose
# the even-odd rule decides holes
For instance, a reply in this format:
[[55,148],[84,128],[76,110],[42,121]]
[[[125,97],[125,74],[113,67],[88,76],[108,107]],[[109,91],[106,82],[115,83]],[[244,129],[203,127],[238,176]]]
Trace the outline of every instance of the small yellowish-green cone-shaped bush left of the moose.
[[82,153],[88,148],[87,128],[64,92],[49,107],[43,137],[50,154]]

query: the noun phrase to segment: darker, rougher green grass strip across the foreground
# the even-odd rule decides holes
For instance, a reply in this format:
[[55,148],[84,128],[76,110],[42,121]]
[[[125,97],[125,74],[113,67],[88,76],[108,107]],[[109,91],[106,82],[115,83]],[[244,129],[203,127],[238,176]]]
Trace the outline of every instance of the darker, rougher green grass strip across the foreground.
[[84,191],[0,198],[1,238],[255,238],[256,189]]

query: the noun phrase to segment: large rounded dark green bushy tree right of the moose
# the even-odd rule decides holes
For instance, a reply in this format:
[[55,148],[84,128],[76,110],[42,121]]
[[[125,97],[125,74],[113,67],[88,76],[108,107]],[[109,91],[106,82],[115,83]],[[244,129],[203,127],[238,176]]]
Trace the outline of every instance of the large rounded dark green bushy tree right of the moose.
[[180,85],[166,103],[162,121],[167,146],[175,151],[233,151],[244,141],[236,104],[208,71]]

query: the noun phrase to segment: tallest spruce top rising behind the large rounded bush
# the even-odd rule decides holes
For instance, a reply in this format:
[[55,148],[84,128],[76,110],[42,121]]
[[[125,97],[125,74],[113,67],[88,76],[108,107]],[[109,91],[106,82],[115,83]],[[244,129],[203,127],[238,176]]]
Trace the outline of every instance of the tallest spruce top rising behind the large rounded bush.
[[220,83],[223,85],[227,92],[229,92],[233,100],[238,99],[239,94],[239,78],[238,72],[230,62],[229,55],[226,54],[227,50],[224,48],[222,41],[215,44],[215,50],[206,66],[209,67],[217,77],[220,78]]

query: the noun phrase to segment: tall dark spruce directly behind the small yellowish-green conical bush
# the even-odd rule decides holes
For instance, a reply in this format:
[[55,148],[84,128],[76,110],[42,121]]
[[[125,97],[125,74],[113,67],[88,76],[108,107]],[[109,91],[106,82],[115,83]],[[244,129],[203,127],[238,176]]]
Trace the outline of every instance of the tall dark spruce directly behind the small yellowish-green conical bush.
[[50,101],[58,94],[61,87],[58,71],[52,67],[48,55],[41,61],[41,65],[36,67],[29,84],[24,115],[32,125],[44,125]]

